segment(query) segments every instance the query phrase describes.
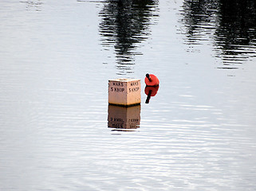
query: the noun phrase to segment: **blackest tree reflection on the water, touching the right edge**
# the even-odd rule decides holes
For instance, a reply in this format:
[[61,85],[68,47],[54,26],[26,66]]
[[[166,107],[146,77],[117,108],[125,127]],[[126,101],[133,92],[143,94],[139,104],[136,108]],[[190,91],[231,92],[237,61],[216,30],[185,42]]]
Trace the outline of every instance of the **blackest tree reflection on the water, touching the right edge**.
[[256,2],[254,0],[225,0],[219,3],[219,27],[216,45],[223,53],[223,62],[242,64],[255,57]]

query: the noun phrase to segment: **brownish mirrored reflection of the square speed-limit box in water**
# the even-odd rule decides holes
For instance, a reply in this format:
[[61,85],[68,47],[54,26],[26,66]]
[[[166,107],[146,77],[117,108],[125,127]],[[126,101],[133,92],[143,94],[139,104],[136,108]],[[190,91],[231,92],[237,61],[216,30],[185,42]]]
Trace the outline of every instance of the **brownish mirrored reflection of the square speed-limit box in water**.
[[120,107],[108,105],[108,127],[136,129],[140,127],[140,105]]

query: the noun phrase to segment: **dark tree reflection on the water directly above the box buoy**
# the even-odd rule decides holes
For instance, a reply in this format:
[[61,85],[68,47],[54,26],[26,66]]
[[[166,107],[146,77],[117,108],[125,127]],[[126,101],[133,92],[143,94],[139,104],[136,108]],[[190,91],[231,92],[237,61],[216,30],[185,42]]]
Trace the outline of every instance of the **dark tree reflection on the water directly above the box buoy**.
[[132,72],[134,55],[141,41],[150,34],[152,18],[158,17],[158,2],[152,0],[108,0],[100,11],[100,34],[105,49],[114,47],[117,74]]

